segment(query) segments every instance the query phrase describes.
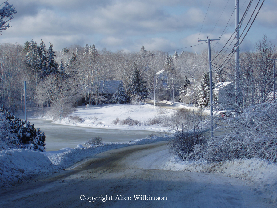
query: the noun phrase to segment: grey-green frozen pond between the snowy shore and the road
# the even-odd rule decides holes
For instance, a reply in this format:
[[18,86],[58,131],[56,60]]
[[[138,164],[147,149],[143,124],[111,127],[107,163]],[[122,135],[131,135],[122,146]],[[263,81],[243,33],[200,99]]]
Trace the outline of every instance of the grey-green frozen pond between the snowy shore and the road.
[[115,130],[102,128],[88,128],[54,124],[50,120],[29,119],[34,127],[40,128],[46,135],[46,151],[56,151],[64,147],[74,148],[83,145],[87,138],[102,137],[103,143],[129,142],[130,140],[144,138],[157,132],[142,130]]

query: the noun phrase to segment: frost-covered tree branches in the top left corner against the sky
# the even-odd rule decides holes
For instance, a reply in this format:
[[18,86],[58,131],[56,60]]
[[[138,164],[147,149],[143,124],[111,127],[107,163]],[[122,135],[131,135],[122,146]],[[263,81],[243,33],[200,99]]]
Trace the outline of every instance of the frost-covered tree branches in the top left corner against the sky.
[[[5,6],[0,9],[0,32],[2,30],[7,30],[10,26],[10,20],[14,18],[14,14],[17,13],[13,5],[10,5],[8,1],[2,3],[0,6],[5,4]],[[0,33],[1,35],[1,33]]]

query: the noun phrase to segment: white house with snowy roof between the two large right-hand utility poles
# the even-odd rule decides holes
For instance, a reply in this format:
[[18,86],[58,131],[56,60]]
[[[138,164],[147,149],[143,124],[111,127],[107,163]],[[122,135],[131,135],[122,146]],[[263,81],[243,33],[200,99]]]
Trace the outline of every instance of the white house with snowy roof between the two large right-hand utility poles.
[[218,103],[231,102],[230,93],[234,94],[235,84],[232,82],[219,82],[215,84],[213,94],[218,96]]

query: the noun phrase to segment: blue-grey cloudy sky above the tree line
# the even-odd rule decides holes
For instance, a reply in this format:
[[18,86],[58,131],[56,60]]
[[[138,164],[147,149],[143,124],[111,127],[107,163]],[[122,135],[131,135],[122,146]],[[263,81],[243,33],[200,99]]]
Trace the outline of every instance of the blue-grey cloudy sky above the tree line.
[[[199,39],[222,38],[214,50],[225,45],[235,29],[235,0],[9,0],[17,10],[12,26],[2,32],[0,43],[24,44],[42,39],[60,51],[71,45],[95,44],[99,50],[164,52],[182,51]],[[249,0],[240,0],[242,16]],[[247,12],[242,28],[258,0]],[[262,2],[262,0],[261,0]],[[209,7],[209,9],[208,9]],[[208,10],[207,10],[208,9]],[[277,1],[266,0],[241,50],[251,50],[264,35],[277,43]],[[207,15],[206,15],[207,12]],[[234,12],[234,13],[233,13]],[[232,14],[233,13],[233,14]],[[206,15],[206,18],[205,18]],[[203,27],[202,27],[203,24]],[[201,31],[201,32],[200,32]],[[216,45],[215,45],[216,44]],[[48,45],[48,44],[47,44]],[[207,43],[185,48],[201,51]]]

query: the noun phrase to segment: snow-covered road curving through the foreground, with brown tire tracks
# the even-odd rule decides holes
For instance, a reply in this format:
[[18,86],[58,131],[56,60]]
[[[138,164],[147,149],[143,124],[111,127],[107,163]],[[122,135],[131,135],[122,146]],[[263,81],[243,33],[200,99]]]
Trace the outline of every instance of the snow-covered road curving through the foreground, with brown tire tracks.
[[238,179],[163,170],[171,157],[165,144],[109,150],[61,173],[6,188],[0,207],[270,207]]

